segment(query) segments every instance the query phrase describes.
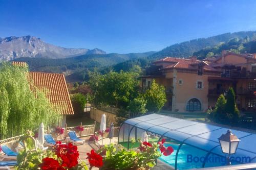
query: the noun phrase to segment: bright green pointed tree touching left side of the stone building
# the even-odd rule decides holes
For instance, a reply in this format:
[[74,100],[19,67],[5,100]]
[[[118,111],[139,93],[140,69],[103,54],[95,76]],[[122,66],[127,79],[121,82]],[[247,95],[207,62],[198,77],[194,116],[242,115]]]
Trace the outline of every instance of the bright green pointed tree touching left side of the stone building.
[[146,109],[148,111],[160,111],[167,101],[164,86],[158,85],[153,79],[150,89],[147,89],[144,94],[144,98],[147,101]]

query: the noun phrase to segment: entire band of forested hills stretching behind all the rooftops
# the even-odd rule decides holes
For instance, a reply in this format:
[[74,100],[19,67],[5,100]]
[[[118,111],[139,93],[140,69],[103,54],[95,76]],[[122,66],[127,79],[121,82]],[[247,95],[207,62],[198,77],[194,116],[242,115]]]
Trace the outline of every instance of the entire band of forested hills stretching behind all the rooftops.
[[[38,39],[38,38],[37,38]],[[256,52],[256,31],[225,33],[208,38],[199,38],[167,46],[159,52],[131,53],[131,54],[90,54],[90,51],[82,51],[83,55],[70,57],[48,56],[21,57],[15,61],[24,61],[29,64],[30,70],[64,73],[68,81],[84,81],[88,78],[88,71],[97,68],[105,72],[110,69],[115,71],[129,71],[134,68],[142,69],[149,66],[153,61],[164,57],[187,58],[192,55],[204,59],[209,52],[219,55],[221,50],[237,50],[238,52]],[[1,43],[0,43],[1,45]],[[60,47],[61,48],[61,47]],[[70,48],[68,48],[70,49]],[[80,49],[80,48],[79,48]],[[100,50],[96,50],[98,51]],[[78,52],[78,53],[81,53]],[[1,54],[1,53],[0,53]],[[77,54],[77,53],[76,53]],[[75,55],[73,53],[73,55]]]

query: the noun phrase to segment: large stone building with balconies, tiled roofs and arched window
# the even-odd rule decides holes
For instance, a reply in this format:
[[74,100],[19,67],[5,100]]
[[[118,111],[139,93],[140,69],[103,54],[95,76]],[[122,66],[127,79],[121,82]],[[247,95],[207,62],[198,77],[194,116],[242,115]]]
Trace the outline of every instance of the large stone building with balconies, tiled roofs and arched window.
[[163,109],[174,112],[205,112],[215,106],[220,94],[229,87],[236,92],[240,110],[256,110],[256,54],[222,52],[211,60],[166,57],[155,61],[141,77],[141,91],[152,80],[166,89]]

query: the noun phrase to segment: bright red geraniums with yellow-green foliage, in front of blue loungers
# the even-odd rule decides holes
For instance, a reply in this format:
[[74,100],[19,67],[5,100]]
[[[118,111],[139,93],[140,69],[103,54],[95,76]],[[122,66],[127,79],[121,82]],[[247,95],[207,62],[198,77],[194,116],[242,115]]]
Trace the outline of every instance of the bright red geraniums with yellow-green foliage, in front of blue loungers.
[[77,147],[72,143],[56,142],[53,150],[41,151],[35,147],[35,138],[29,133],[22,141],[24,150],[17,155],[15,169],[23,170],[88,170],[86,163],[79,160]]

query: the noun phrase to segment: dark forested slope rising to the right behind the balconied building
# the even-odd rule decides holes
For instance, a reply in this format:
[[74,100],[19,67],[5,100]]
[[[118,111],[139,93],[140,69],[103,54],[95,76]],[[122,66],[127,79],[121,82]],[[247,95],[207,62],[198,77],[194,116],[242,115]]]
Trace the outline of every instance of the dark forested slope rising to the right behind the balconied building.
[[[221,44],[227,44],[228,42],[231,42],[230,45],[232,45],[232,41],[234,39],[238,39],[239,43],[242,43],[242,42],[245,42],[244,41],[245,37],[247,39],[247,42],[248,42],[248,39],[252,40],[252,41],[256,40],[256,31],[225,33],[225,34],[221,34],[221,35],[217,35],[217,36],[212,36],[209,38],[199,38],[199,39],[195,39],[195,40],[185,41],[185,42],[182,42],[179,44],[170,45],[170,46],[164,48],[163,50],[161,50],[157,53],[154,53],[153,55],[148,56],[146,58],[139,58],[139,59],[132,59],[132,60],[124,61],[124,62],[121,62],[121,63],[111,66],[111,68],[113,68],[115,71],[130,70],[135,65],[139,65],[142,68],[145,68],[149,64],[151,64],[153,61],[167,57],[167,56],[168,57],[177,57],[177,58],[187,58],[191,55],[197,55],[198,57],[200,57],[200,54],[201,54],[202,55],[201,59],[203,59],[203,58],[205,58],[205,56],[208,52],[212,52],[211,48],[215,48],[216,46],[221,45]],[[244,44],[244,46],[245,46],[244,49],[247,49],[248,53],[254,53],[253,50],[256,51],[256,45],[253,46],[252,41]],[[250,44],[250,43],[252,43],[252,44]],[[225,45],[222,47],[224,47],[224,48],[220,48],[220,49],[223,49],[223,50],[230,49],[230,48],[226,47]],[[231,46],[231,47],[236,49],[234,46]],[[250,48],[251,50],[248,51],[248,48]],[[203,54],[203,53],[205,53],[205,54]]]

